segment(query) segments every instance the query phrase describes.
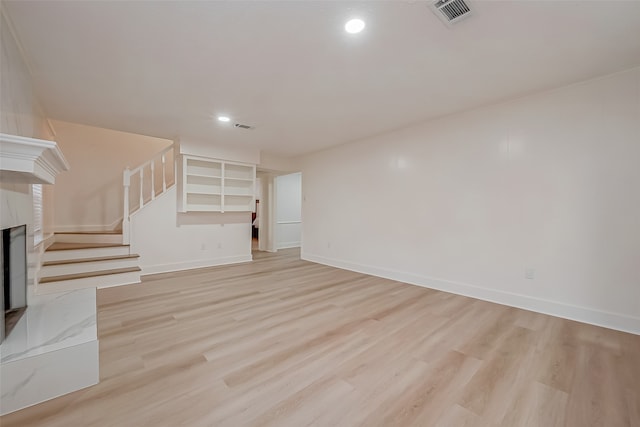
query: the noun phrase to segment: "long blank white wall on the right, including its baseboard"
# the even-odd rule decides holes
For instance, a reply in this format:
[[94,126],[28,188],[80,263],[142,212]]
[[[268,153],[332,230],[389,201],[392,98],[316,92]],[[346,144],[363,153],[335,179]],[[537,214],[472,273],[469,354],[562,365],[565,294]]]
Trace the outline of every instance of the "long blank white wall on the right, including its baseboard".
[[640,68],[301,161],[303,258],[640,333]]

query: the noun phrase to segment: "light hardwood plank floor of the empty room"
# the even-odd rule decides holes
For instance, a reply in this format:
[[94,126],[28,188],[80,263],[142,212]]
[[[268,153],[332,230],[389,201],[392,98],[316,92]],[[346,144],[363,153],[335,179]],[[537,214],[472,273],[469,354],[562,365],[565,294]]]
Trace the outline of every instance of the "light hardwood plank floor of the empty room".
[[98,291],[100,384],[13,426],[640,426],[640,337],[297,250]]

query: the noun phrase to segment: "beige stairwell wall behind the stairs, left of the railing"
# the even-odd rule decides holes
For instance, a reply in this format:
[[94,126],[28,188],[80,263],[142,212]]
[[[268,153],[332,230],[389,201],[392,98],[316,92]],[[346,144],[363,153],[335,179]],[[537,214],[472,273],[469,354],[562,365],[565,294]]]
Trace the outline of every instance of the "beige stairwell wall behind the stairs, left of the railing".
[[56,179],[55,230],[113,229],[123,210],[122,173],[173,141],[53,121],[56,140],[71,170]]

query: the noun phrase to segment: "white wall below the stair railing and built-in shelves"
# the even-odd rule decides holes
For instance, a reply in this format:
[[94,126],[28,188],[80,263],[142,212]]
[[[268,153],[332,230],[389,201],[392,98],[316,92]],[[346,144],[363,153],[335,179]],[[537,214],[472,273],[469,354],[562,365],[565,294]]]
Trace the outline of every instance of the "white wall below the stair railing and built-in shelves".
[[251,261],[251,213],[177,213],[176,187],[131,217],[142,274]]

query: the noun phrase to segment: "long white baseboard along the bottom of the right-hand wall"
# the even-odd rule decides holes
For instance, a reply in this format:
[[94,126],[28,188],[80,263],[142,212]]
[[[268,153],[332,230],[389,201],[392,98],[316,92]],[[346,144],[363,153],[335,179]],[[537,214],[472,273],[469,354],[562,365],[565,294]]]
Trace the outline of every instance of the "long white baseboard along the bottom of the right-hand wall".
[[579,307],[557,301],[550,301],[495,289],[487,289],[468,283],[453,282],[402,271],[357,264],[349,261],[309,254],[306,252],[301,254],[301,258],[318,264],[342,268],[344,270],[351,270],[385,279],[397,280],[411,285],[437,289],[439,291],[464,295],[484,301],[495,302],[502,305],[522,308],[551,316],[562,317],[564,319],[575,320],[582,323],[589,323],[596,326],[640,335],[640,317],[611,313],[588,307]]

